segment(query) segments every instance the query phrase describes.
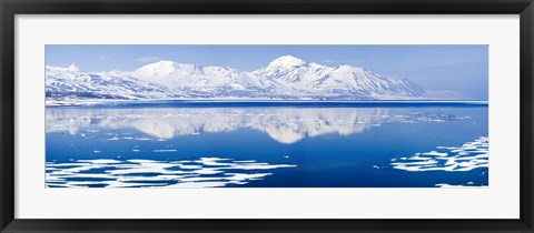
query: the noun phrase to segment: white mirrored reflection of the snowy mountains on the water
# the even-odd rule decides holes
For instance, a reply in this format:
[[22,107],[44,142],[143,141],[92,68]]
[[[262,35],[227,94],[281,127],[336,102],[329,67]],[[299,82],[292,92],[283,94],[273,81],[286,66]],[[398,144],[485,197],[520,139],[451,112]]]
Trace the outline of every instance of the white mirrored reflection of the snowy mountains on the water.
[[49,108],[46,116],[48,133],[80,134],[136,129],[155,139],[168,140],[178,135],[250,129],[286,144],[325,134],[362,133],[384,123],[445,122],[469,118],[404,108]]

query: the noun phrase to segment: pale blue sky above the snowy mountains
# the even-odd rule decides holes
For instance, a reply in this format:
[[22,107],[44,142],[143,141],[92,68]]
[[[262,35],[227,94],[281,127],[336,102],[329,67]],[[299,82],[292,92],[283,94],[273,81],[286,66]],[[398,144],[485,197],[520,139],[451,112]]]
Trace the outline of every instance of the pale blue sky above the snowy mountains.
[[290,54],[335,67],[350,64],[427,91],[487,100],[488,47],[483,45],[47,45],[46,63],[83,71],[131,71],[160,60],[253,71]]

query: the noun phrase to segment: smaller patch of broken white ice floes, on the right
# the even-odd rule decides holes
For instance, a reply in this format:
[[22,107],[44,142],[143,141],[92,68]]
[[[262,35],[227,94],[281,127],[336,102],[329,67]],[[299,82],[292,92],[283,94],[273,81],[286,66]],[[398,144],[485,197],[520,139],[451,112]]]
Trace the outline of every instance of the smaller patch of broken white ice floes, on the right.
[[488,168],[488,141],[487,136],[479,136],[473,142],[466,142],[461,146],[437,146],[436,150],[438,151],[415,153],[409,158],[394,158],[390,165],[394,169],[412,172],[463,172],[478,168]]

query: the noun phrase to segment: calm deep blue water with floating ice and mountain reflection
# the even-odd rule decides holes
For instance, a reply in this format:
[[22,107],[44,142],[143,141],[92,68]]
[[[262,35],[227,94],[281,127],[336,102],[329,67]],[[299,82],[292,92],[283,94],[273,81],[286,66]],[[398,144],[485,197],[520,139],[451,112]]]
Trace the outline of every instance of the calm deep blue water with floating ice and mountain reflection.
[[487,105],[47,108],[49,188],[487,186]]

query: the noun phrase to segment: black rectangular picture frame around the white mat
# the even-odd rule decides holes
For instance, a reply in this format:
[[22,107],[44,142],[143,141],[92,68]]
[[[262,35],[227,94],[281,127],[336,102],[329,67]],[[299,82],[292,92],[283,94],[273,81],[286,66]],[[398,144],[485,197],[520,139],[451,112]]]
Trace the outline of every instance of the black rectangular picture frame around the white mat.
[[[0,0],[1,232],[534,232],[532,0]],[[517,220],[28,220],[14,219],[17,14],[520,14],[521,210]],[[501,200],[495,200],[501,201]],[[320,210],[318,210],[320,211]]]

